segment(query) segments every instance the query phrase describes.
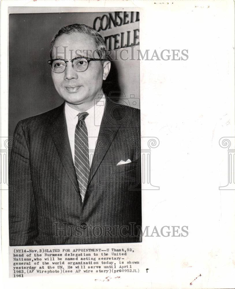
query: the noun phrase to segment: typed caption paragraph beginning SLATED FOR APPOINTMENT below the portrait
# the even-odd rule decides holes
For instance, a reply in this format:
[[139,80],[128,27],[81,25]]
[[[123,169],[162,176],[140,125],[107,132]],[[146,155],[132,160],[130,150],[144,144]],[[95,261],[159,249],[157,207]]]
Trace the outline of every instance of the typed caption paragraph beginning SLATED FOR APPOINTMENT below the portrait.
[[114,246],[9,247],[10,277],[55,274],[139,273],[140,248]]

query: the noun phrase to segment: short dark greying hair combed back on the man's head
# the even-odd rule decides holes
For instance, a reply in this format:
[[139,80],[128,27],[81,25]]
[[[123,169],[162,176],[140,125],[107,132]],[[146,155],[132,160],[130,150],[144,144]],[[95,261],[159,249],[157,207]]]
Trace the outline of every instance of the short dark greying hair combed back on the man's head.
[[51,49],[50,49],[50,58],[51,58],[51,53],[53,49],[53,45],[55,43],[55,40],[63,35],[63,34],[73,34],[73,33],[83,33],[87,34],[89,36],[94,37],[94,40],[97,45],[97,53],[99,54],[99,58],[106,59],[106,45],[105,41],[102,38],[102,36],[93,28],[85,25],[85,24],[71,24],[68,26],[61,27],[57,34],[53,37],[51,40]]

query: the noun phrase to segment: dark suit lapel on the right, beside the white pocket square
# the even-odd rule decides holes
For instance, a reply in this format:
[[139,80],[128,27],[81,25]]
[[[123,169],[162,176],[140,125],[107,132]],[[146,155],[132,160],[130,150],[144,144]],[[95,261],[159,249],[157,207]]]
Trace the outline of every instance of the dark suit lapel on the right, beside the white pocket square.
[[92,159],[87,188],[118,132],[120,127],[118,121],[120,119],[119,105],[110,99],[106,99],[104,115],[102,117],[96,149]]

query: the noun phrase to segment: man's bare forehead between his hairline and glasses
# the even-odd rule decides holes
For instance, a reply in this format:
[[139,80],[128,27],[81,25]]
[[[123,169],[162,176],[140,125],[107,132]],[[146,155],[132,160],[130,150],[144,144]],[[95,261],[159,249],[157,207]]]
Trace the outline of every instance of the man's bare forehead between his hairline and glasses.
[[[52,49],[52,58],[59,56],[66,59],[66,56],[70,58],[70,55],[75,57],[78,54],[91,57],[92,51],[95,51],[96,49],[96,42],[90,35],[79,32],[62,34],[55,40]],[[56,55],[57,53],[58,55]]]

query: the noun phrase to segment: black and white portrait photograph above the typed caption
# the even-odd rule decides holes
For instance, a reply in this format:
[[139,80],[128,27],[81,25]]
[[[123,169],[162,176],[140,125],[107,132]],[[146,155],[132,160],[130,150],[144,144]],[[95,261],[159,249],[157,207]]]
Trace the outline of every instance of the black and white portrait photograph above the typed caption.
[[10,246],[141,241],[139,62],[118,55],[138,27],[133,11],[9,15]]

